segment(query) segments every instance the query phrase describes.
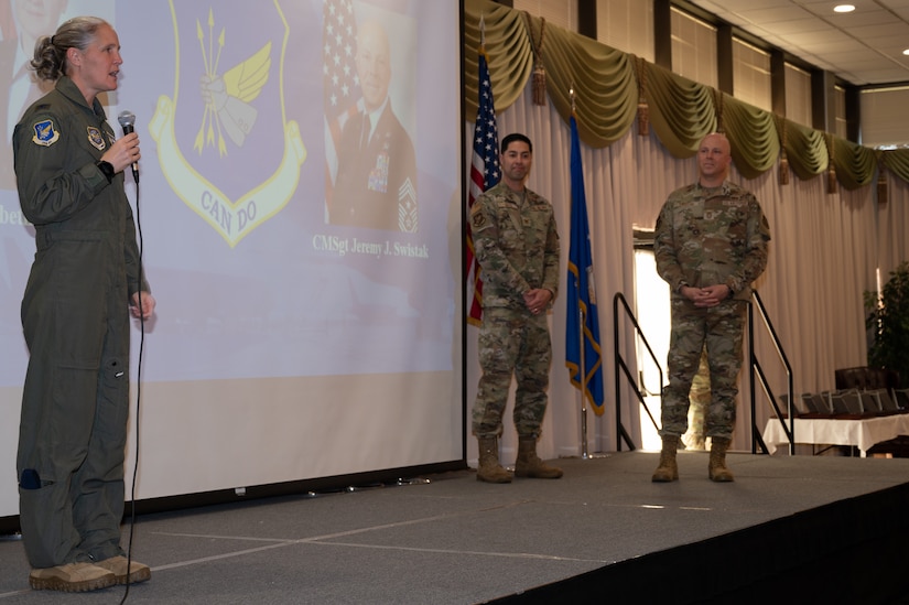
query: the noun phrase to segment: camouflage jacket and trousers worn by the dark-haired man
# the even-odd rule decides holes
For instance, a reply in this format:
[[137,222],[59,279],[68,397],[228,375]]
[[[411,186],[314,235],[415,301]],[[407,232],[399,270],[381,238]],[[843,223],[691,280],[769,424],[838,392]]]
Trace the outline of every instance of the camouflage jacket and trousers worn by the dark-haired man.
[[473,432],[498,436],[511,376],[515,428],[519,436],[539,436],[547,410],[552,344],[545,313],[534,315],[523,294],[559,288],[559,234],[552,205],[524,187],[505,182],[477,197],[470,208],[474,249],[483,271],[483,324],[479,328],[479,379]]

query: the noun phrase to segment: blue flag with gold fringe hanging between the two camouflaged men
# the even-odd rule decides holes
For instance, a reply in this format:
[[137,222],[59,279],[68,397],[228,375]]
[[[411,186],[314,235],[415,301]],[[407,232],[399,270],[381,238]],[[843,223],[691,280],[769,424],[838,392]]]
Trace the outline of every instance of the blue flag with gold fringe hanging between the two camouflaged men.
[[[581,347],[584,347],[584,397],[597,415],[603,414],[603,356],[599,350],[599,318],[596,310],[587,196],[581,166],[577,122],[571,117],[571,244],[569,247],[569,298],[565,326],[565,365],[572,385],[581,388]],[[583,345],[581,312],[584,313]]]

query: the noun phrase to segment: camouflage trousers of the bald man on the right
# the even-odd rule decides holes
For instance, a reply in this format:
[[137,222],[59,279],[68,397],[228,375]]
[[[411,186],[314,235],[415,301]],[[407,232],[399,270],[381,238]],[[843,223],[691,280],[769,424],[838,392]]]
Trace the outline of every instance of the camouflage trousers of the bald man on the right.
[[686,300],[672,300],[672,332],[667,366],[669,385],[663,389],[661,435],[682,435],[688,430],[689,395],[697,374],[702,350],[710,368],[711,402],[706,413],[708,437],[732,439],[742,369],[745,302],[724,301],[699,309]]

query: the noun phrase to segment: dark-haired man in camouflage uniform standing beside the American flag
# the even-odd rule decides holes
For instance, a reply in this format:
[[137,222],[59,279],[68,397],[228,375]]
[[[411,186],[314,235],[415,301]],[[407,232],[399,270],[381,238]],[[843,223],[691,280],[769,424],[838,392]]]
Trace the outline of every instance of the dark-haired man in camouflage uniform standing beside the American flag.
[[502,180],[470,208],[476,258],[483,271],[483,324],[479,379],[473,432],[479,442],[477,479],[509,483],[499,464],[498,437],[511,376],[518,461],[515,474],[558,478],[562,471],[537,456],[537,439],[547,410],[552,345],[547,310],[559,288],[559,234],[552,205],[524,186],[532,161],[523,134],[502,139]]

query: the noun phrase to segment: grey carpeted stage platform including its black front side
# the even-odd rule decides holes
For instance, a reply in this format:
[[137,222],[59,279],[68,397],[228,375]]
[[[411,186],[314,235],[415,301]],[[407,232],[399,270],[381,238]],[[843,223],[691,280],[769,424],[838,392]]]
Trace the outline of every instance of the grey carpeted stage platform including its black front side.
[[[127,603],[905,603],[909,460],[735,453],[732,484],[681,452],[556,462],[559,480],[472,471],[142,515]],[[410,479],[410,478],[408,478]],[[128,529],[128,528],[127,528]],[[0,605],[119,603],[30,591],[0,541]]]

